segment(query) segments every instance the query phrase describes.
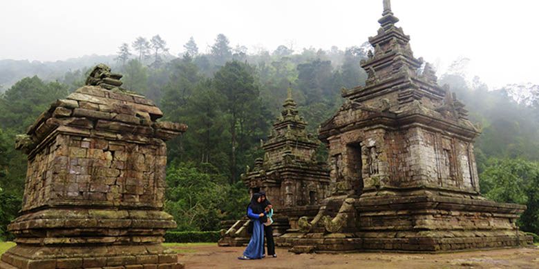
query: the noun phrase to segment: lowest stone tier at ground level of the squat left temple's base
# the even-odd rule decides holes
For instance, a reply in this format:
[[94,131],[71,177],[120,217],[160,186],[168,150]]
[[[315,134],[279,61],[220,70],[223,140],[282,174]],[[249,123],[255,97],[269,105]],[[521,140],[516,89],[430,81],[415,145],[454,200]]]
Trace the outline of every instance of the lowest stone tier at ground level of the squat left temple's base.
[[0,269],[115,268],[183,269],[178,255],[160,244],[139,246],[26,246],[2,255]]

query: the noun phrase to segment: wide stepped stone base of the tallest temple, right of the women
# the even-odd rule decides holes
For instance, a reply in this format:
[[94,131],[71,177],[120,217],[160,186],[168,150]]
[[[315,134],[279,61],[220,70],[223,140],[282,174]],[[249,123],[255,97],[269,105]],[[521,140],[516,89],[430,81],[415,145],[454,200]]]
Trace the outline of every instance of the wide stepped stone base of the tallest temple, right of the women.
[[340,232],[326,232],[323,223],[316,223],[310,232],[287,233],[276,244],[292,252],[451,252],[533,243],[516,226],[525,206],[496,203],[474,193],[365,192],[354,199],[353,207],[340,221]]

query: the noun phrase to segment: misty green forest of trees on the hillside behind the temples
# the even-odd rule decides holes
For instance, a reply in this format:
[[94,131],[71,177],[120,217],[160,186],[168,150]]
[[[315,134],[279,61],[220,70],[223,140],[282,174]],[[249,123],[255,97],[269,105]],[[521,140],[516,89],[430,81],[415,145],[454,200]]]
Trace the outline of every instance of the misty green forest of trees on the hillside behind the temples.
[[[260,140],[269,134],[287,88],[316,132],[343,102],[341,88],[363,85],[360,61],[368,46],[294,51],[278,46],[249,53],[232,47],[224,34],[207,53],[192,38],[178,57],[159,35],[120,44],[114,72],[123,88],[144,94],[165,119],[186,123],[188,132],[168,142],[166,210],[178,230],[216,230],[219,221],[243,215],[247,188],[240,181],[246,166],[261,157]],[[26,77],[0,97],[0,233],[21,206],[26,157],[14,149],[22,133],[55,99],[83,85],[89,68],[67,72],[56,81]],[[478,79],[466,82],[444,74],[480,123],[475,143],[482,193],[495,201],[527,204],[522,230],[539,232],[539,106],[513,101],[504,90],[489,90]],[[470,85],[471,84],[471,85]],[[323,146],[321,158],[323,158]]]

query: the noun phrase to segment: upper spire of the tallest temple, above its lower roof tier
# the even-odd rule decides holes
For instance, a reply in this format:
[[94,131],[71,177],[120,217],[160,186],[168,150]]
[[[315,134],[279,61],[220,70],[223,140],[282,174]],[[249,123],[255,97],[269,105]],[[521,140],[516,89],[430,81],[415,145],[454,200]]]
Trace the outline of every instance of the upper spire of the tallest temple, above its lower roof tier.
[[436,105],[443,101],[446,90],[437,85],[432,66],[426,65],[422,72],[424,61],[414,57],[410,37],[395,26],[398,21],[390,0],[384,0],[384,12],[378,21],[381,27],[375,37],[369,37],[374,53],[370,52],[368,59],[361,61],[361,67],[368,74],[366,86],[344,90],[343,97],[365,101],[378,99],[381,92],[395,92],[384,97],[392,104],[393,111],[424,98],[436,100],[432,103]]

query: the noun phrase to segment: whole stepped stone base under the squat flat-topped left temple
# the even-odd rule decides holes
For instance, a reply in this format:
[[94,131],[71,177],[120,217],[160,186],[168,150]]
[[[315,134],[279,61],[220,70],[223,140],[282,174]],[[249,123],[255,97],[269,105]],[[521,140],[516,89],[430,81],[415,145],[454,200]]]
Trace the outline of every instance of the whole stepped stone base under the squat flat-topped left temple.
[[2,255],[0,269],[183,268],[161,245],[176,223],[159,210],[46,208],[8,227],[17,246]]

